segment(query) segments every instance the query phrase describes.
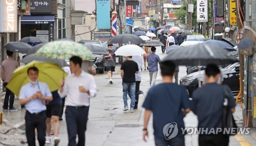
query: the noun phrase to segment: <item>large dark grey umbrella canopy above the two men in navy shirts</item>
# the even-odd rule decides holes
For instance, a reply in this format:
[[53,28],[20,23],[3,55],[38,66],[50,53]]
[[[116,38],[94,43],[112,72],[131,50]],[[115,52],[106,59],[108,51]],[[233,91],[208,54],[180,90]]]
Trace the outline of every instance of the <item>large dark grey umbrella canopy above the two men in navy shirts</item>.
[[201,66],[209,63],[226,65],[238,62],[227,50],[208,44],[198,44],[173,50],[164,61],[173,61],[176,65]]

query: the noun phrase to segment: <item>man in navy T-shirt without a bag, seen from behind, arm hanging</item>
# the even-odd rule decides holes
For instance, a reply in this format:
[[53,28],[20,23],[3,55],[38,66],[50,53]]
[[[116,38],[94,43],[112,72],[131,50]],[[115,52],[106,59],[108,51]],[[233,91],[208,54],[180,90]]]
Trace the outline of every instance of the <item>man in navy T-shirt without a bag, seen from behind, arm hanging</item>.
[[[173,74],[175,64],[173,62],[164,62],[160,64],[163,83],[153,86],[147,93],[146,99],[142,105],[145,108],[143,139],[148,136],[147,124],[150,115],[153,113],[153,127],[156,145],[179,145],[183,146],[184,135],[181,128],[185,128],[183,118],[190,111],[190,102],[187,92],[183,86],[173,83]],[[168,124],[176,123],[170,137]],[[163,131],[166,133],[163,134]],[[176,133],[176,134],[175,134]]]

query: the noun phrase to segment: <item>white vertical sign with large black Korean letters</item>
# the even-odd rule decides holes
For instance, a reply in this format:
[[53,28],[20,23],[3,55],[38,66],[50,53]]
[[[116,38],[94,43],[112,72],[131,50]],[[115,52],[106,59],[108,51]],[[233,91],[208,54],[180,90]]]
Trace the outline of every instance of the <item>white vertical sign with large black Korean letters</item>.
[[208,22],[207,0],[197,0],[197,22]]

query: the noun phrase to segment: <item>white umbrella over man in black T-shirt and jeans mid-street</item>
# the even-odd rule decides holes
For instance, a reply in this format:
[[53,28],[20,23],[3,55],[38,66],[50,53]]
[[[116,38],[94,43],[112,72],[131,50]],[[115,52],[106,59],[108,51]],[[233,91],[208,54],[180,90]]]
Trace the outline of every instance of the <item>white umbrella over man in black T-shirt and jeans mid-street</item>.
[[115,52],[118,56],[136,56],[136,55],[142,55],[146,52],[144,49],[139,47],[138,45],[124,45],[118,48]]

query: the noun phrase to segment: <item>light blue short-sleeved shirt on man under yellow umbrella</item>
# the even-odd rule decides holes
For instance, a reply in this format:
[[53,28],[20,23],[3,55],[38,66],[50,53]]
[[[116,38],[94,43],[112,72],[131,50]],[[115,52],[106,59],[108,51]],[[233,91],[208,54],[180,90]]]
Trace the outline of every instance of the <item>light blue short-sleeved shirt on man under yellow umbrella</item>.
[[[38,81],[34,85],[32,85],[30,82],[23,85],[22,89],[19,91],[19,99],[29,98],[38,91],[40,91],[45,97],[52,96],[48,85],[44,82]],[[27,102],[25,107],[30,113],[37,113],[46,110],[46,105],[42,104],[42,101],[37,98]]]

